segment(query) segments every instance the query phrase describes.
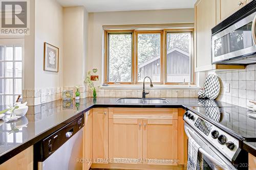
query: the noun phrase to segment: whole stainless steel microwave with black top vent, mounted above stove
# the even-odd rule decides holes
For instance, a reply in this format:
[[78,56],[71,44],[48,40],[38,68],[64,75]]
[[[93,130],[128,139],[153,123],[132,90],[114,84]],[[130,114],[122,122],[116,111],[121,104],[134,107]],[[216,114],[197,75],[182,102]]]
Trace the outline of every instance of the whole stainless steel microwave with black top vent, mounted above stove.
[[255,27],[256,1],[252,1],[212,28],[212,63],[256,63]]

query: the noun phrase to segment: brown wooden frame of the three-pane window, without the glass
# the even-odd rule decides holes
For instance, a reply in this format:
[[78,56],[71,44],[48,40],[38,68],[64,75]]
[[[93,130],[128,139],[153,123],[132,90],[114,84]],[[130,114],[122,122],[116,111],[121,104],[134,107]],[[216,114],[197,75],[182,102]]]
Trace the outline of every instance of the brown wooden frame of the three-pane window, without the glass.
[[[131,69],[131,82],[117,82],[116,84],[142,84],[142,82],[138,82],[138,52],[137,52],[137,39],[138,39],[138,34],[154,34],[154,33],[160,33],[161,34],[161,51],[160,51],[160,82],[153,82],[154,84],[160,84],[160,85],[180,85],[183,82],[167,82],[167,75],[166,75],[166,47],[167,47],[167,40],[166,36],[167,33],[182,33],[182,32],[191,32],[191,43],[192,47],[190,49],[190,57],[191,57],[191,85],[195,85],[196,82],[196,74],[194,72],[194,29],[162,29],[162,30],[104,30],[104,84],[115,84],[115,82],[108,82],[108,37],[109,33],[132,33],[132,69]],[[188,84],[188,83],[185,83]]]

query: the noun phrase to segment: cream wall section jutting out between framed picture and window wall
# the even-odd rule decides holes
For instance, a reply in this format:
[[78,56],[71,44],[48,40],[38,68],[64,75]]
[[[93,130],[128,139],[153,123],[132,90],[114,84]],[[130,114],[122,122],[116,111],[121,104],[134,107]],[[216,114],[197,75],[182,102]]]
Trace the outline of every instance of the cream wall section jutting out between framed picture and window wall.
[[86,68],[88,12],[81,6],[63,8],[63,19],[63,85],[82,86]]

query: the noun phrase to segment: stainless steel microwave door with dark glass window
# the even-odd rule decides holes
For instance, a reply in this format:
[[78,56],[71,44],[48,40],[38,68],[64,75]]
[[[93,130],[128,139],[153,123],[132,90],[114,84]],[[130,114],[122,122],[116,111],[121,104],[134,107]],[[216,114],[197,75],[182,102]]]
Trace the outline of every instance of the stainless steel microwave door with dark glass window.
[[[256,53],[255,15],[256,12],[211,37],[212,63]],[[236,64],[235,61],[232,62]],[[237,64],[246,64],[240,62],[242,61]]]

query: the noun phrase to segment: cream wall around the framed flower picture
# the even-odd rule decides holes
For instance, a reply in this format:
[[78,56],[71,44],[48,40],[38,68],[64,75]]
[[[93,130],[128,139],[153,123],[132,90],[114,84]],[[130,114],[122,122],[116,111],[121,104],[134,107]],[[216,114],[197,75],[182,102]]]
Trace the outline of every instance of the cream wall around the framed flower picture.
[[[59,72],[44,71],[44,42],[59,48]],[[62,7],[55,0],[35,2],[34,75],[34,89],[63,86],[63,16]]]

